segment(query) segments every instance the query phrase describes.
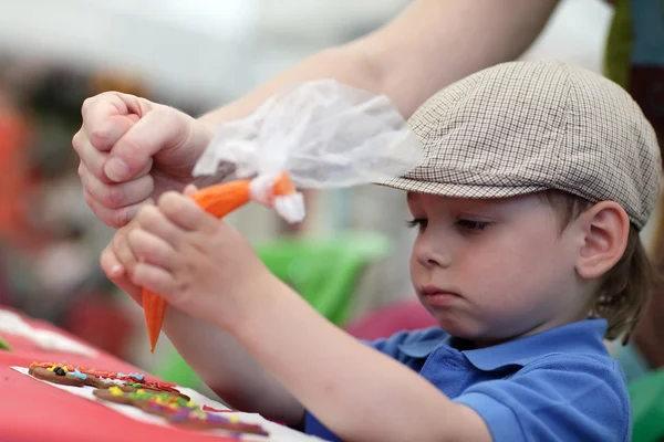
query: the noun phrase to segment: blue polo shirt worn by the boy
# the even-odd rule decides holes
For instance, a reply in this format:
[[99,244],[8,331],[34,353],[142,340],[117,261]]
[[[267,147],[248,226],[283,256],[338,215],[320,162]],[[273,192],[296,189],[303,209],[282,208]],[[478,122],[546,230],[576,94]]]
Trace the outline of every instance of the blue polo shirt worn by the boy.
[[[440,328],[402,332],[370,346],[473,408],[494,441],[629,441],[624,373],[608,352],[604,319],[587,319],[497,346],[464,350]],[[312,414],[304,431],[339,441]]]

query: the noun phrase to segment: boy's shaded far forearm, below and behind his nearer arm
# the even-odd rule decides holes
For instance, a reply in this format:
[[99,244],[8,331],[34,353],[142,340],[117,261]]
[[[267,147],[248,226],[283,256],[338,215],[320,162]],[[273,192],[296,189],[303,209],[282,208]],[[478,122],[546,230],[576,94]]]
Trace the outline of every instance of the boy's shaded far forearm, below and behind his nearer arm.
[[247,412],[298,424],[302,407],[229,334],[168,308],[164,332],[183,358],[220,398]]

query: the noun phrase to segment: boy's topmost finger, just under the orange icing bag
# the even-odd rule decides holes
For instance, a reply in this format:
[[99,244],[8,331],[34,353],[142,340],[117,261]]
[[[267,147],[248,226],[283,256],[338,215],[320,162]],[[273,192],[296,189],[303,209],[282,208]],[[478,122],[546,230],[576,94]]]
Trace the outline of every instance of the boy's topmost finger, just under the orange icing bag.
[[191,198],[181,193],[164,193],[157,207],[169,221],[184,230],[211,232],[217,228],[212,215],[206,213]]

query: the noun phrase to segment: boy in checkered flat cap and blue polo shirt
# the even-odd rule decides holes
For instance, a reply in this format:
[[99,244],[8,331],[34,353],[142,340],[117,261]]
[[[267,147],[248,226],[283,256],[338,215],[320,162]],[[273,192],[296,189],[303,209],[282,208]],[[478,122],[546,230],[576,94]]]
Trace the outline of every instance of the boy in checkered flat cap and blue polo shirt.
[[425,161],[383,185],[407,191],[411,276],[439,328],[354,340],[173,192],[102,266],[136,299],[168,299],[167,335],[221,398],[308,433],[629,440],[603,338],[629,336],[652,280],[639,230],[660,156],[639,107],[590,72],[520,62],[445,88],[411,125]]

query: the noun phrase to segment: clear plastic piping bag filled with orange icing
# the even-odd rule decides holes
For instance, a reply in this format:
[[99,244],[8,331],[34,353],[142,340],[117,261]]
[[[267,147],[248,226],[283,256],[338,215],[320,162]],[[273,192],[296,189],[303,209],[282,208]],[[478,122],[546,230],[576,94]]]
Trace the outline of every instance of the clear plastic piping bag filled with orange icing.
[[[256,200],[288,222],[300,222],[305,212],[295,187],[383,181],[421,161],[418,143],[387,97],[332,80],[315,81],[288,87],[249,117],[220,126],[194,175],[212,176],[230,162],[238,180],[190,197],[216,218]],[[143,290],[152,351],[166,305],[162,296]]]

